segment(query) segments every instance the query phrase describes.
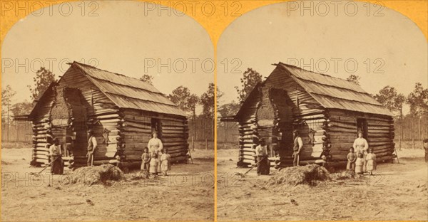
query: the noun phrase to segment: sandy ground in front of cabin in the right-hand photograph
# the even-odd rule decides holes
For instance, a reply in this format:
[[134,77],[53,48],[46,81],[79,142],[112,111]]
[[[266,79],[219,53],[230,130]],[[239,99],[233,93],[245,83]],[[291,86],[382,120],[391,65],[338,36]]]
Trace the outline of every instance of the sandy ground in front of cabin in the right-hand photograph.
[[[237,149],[218,150],[218,221],[428,220],[428,165],[422,149],[402,149],[362,181],[266,186],[272,176],[235,168]],[[271,174],[277,174],[271,168]],[[294,201],[292,201],[294,200]],[[294,202],[294,203],[292,203]]]

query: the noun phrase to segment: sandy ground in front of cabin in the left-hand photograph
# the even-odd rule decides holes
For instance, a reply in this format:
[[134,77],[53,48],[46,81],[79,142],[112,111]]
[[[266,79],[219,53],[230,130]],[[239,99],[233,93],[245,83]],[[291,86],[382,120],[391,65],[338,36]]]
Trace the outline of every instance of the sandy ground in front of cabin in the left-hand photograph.
[[168,177],[88,187],[63,185],[49,168],[32,176],[41,168],[29,167],[31,149],[1,149],[1,221],[213,221],[213,150],[192,154]]

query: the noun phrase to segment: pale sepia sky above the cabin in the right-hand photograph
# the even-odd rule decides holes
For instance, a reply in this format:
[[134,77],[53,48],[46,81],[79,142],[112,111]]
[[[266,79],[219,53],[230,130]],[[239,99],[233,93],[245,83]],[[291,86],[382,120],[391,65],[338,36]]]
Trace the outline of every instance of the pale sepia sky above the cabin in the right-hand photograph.
[[225,93],[220,105],[238,100],[234,87],[247,68],[267,77],[278,62],[337,78],[359,75],[372,94],[386,85],[404,95],[417,82],[427,88],[427,39],[409,18],[364,2],[355,3],[355,12],[345,3],[335,10],[329,1],[317,2],[327,5],[315,4],[312,11],[287,3],[263,6],[226,28],[218,43],[218,88]]

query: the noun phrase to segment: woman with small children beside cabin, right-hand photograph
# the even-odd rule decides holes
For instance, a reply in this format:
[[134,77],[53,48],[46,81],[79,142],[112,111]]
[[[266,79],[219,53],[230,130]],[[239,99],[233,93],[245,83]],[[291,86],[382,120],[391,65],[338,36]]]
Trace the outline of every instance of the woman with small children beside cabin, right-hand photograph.
[[370,175],[376,169],[376,154],[373,153],[373,149],[369,149],[369,144],[362,137],[362,132],[358,132],[358,138],[355,139],[347,154],[346,169],[355,171],[356,174],[367,172]]

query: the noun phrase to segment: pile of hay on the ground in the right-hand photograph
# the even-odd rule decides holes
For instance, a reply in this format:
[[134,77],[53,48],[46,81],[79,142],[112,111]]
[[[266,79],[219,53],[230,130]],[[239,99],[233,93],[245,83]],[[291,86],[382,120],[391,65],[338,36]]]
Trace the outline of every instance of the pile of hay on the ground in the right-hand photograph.
[[330,173],[322,166],[309,164],[281,169],[267,181],[267,186],[296,186],[307,184],[315,186],[319,181],[330,180]]

